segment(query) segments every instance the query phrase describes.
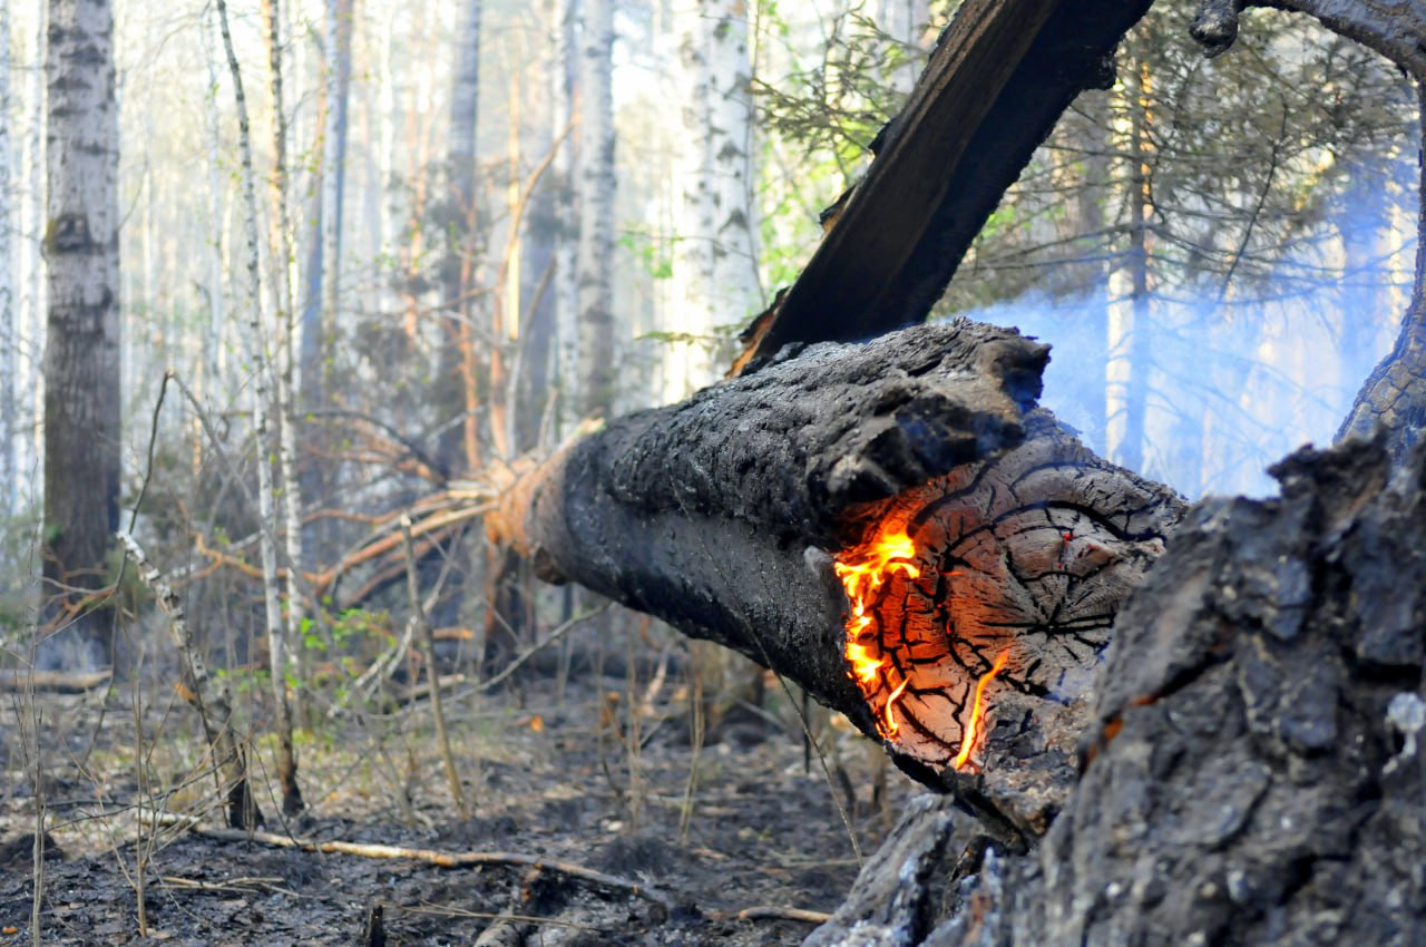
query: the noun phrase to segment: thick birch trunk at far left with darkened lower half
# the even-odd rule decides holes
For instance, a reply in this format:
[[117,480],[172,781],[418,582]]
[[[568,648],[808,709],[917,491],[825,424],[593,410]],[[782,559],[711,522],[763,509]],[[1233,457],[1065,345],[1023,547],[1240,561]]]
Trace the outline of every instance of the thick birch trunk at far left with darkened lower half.
[[74,620],[78,647],[66,657],[84,666],[111,660],[113,615],[108,609],[86,613],[83,598],[106,583],[106,559],[118,528],[118,107],[113,40],[107,0],[50,1],[44,578],[51,598],[44,615],[51,622]]

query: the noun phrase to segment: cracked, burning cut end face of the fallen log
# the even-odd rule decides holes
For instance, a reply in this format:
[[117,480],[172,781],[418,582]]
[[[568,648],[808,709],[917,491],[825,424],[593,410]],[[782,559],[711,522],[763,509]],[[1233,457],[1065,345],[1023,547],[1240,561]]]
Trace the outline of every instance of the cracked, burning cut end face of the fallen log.
[[860,511],[846,656],[883,739],[974,767],[997,695],[1070,703],[1162,552],[1164,492],[1044,436]]

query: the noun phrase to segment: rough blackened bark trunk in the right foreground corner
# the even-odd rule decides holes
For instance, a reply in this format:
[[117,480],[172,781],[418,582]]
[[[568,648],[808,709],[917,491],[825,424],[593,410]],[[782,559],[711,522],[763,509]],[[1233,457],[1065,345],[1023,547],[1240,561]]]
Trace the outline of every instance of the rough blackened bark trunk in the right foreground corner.
[[[924,804],[809,944],[1426,943],[1426,452],[1302,451],[1119,615],[1070,804],[957,879]],[[904,844],[903,844],[904,847]],[[913,870],[914,867],[914,870]],[[964,866],[963,866],[964,869]]]

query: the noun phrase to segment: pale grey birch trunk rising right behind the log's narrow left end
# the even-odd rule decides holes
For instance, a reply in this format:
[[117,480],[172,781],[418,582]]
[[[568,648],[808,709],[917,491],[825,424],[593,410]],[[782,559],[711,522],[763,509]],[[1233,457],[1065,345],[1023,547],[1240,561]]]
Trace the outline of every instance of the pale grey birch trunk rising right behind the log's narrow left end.
[[615,127],[613,4],[585,0],[579,58],[580,214],[576,251],[580,404],[609,415],[615,402],[617,347],[613,314]]

